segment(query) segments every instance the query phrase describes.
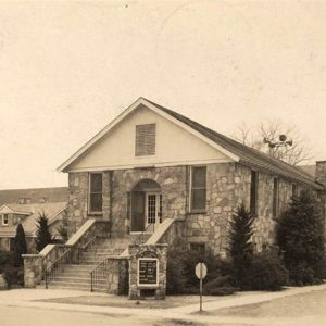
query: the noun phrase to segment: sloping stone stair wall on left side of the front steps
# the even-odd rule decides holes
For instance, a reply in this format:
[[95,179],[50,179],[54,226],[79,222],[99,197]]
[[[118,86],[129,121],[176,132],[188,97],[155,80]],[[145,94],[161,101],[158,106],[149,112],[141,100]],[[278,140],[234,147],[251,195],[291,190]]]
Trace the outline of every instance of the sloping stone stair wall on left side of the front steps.
[[80,251],[85,250],[99,236],[110,237],[109,222],[87,220],[65,244],[48,244],[38,254],[23,254],[25,287],[34,288],[40,284],[45,273],[51,272],[53,262],[71,249],[72,263],[79,263]]

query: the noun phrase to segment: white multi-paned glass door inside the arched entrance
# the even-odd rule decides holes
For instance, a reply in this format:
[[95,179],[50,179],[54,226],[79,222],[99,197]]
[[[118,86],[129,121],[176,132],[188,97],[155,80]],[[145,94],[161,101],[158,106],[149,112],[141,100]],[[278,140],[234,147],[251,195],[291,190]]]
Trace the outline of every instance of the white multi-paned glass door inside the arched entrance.
[[154,231],[162,223],[162,193],[146,192],[146,228]]

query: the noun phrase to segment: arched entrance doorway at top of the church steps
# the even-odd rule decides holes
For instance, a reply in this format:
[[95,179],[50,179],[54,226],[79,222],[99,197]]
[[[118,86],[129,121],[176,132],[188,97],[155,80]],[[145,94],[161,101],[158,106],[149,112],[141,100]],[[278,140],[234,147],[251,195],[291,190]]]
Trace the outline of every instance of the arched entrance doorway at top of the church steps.
[[153,233],[162,223],[162,190],[151,179],[139,181],[131,190],[131,233]]

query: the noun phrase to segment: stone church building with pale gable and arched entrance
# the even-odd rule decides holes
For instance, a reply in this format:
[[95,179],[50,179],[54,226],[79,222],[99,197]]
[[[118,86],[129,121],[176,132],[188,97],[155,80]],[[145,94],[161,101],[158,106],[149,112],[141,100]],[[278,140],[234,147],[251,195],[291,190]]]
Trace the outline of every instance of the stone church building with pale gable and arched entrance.
[[[326,163],[317,164],[325,183]],[[260,251],[275,243],[277,220],[293,195],[324,192],[303,170],[143,98],[59,171],[68,173],[70,234],[88,218],[110,221],[112,236],[121,238],[178,218],[190,250],[216,254],[226,252],[228,223],[241,202],[256,217]]]

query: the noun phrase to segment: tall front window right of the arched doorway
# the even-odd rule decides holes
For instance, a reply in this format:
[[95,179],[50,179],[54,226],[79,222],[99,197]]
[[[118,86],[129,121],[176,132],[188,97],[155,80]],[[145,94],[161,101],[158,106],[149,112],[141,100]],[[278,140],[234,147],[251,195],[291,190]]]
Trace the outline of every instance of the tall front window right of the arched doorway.
[[206,167],[192,166],[191,168],[191,211],[206,209]]

